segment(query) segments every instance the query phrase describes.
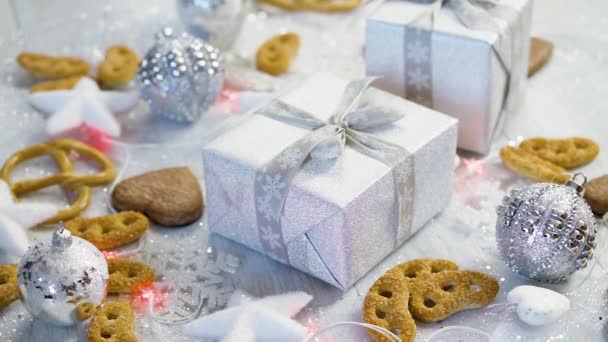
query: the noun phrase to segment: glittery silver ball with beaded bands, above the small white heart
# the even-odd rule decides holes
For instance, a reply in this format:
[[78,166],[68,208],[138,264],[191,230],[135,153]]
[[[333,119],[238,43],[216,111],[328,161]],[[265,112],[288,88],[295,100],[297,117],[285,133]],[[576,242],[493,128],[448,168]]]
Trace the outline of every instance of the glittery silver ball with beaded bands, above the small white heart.
[[513,271],[557,282],[587,266],[596,247],[596,224],[581,197],[583,184],[538,183],[504,198],[498,207],[496,242]]

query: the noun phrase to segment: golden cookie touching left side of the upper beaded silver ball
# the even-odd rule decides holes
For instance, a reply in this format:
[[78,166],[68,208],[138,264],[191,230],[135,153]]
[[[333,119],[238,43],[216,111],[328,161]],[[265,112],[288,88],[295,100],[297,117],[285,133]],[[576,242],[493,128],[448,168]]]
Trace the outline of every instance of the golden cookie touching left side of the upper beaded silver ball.
[[112,46],[97,70],[97,79],[102,88],[114,88],[129,83],[137,73],[139,57],[124,45]]

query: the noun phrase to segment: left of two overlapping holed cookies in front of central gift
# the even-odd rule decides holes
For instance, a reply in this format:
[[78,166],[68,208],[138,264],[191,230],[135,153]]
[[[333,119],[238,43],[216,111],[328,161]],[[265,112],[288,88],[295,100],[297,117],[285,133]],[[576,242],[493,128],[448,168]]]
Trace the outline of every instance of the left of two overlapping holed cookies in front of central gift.
[[[409,298],[406,275],[400,269],[393,268],[369,289],[363,303],[363,320],[391,331],[403,342],[414,341],[416,323],[409,312]],[[376,331],[368,331],[375,341],[389,341]]]

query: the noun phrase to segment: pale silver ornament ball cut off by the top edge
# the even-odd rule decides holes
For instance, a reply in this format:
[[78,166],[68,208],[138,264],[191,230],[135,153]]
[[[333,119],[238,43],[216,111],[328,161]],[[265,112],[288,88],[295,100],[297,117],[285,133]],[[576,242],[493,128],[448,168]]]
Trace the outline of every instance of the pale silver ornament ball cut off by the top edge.
[[245,20],[245,3],[245,0],[177,0],[177,10],[190,33],[220,49],[228,49]]

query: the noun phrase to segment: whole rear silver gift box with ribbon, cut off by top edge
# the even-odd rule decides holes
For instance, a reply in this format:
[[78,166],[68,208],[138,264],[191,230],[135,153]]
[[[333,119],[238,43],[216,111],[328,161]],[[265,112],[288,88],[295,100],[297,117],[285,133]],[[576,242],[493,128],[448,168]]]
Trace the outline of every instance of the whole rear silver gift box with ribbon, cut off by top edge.
[[532,1],[428,2],[387,1],[367,19],[367,74],[457,118],[458,147],[485,154],[523,102]]

